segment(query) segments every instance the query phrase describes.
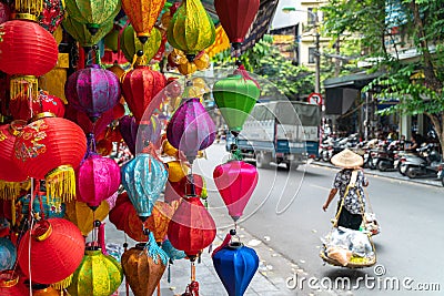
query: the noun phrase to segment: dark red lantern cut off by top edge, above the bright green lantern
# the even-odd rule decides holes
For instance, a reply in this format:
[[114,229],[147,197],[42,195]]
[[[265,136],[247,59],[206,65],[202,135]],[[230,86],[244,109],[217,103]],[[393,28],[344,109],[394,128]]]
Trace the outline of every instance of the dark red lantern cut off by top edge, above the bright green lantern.
[[221,25],[235,50],[241,48],[258,13],[259,4],[260,0],[214,0]]

